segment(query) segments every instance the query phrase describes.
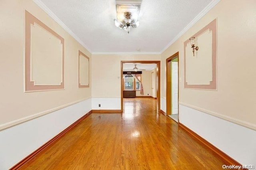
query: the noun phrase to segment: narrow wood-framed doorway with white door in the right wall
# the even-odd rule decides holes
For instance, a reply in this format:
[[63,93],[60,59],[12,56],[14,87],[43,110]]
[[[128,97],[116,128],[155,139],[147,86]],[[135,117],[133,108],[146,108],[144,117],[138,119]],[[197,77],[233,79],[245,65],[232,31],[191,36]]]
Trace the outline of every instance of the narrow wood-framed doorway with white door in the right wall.
[[166,59],[166,115],[178,122],[179,52]]

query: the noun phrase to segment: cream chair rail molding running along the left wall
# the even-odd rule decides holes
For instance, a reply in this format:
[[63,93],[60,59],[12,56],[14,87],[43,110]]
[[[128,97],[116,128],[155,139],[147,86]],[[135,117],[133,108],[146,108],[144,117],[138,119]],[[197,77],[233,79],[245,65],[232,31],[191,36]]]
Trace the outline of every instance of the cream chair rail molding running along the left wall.
[[23,117],[21,119],[17,119],[15,121],[11,121],[11,122],[8,122],[8,123],[4,123],[2,125],[0,125],[0,131],[1,130],[4,130],[6,128],[10,128],[10,127],[13,127],[13,126],[16,126],[16,125],[19,125],[21,123],[24,123],[26,121],[30,121],[32,119],[36,119],[40,116],[43,116],[43,115],[46,115],[48,113],[52,113],[54,111],[57,111],[57,110],[60,110],[60,109],[63,109],[64,107],[68,107],[68,106],[71,106],[71,105],[74,105],[76,103],[79,103],[81,101],[85,101],[87,99],[81,99],[81,100],[78,100],[78,101],[74,101],[74,102],[71,102],[71,103],[68,103],[66,105],[62,105],[62,106],[59,106],[59,107],[55,107],[53,109],[49,109],[49,110],[46,110],[46,111],[42,111],[42,112],[39,112],[39,113],[36,113],[34,115],[30,115],[30,116],[27,116],[27,117]]

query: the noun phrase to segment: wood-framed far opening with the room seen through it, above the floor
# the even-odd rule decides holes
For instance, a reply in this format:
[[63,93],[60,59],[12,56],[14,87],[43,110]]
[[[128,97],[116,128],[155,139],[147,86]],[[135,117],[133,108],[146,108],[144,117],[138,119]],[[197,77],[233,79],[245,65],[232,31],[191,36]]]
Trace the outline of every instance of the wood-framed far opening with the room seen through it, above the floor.
[[160,61],[121,61],[121,109],[123,98],[157,99],[160,108]]

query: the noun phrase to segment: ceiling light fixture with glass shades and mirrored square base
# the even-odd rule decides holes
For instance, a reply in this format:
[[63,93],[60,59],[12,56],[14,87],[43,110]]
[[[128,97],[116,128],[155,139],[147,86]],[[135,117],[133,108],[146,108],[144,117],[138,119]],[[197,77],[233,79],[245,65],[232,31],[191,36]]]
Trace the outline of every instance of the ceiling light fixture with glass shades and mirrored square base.
[[122,0],[116,0],[116,19],[115,26],[130,33],[131,28],[137,28],[140,25],[138,16],[140,13],[140,0],[127,3]]

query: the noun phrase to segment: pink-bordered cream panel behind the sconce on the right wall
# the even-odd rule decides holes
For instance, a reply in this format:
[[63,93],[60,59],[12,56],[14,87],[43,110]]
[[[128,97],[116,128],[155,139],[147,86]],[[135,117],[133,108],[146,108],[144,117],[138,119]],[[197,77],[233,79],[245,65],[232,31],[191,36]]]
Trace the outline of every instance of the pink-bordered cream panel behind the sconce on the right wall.
[[195,56],[193,56],[190,40],[184,42],[184,87],[216,90],[216,19],[191,37],[195,37],[195,45],[199,46],[199,49],[195,50]]

